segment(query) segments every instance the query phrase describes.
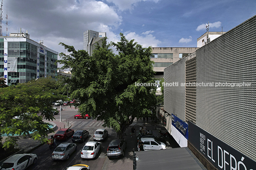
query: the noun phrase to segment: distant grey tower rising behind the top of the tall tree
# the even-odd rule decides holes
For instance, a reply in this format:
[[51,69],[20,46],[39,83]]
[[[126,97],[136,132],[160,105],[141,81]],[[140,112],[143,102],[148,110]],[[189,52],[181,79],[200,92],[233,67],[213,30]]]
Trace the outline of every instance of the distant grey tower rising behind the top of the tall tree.
[[84,32],[84,50],[91,56],[93,50],[96,49],[97,42],[99,45],[102,43],[102,39],[107,37],[106,32],[96,32],[94,30],[86,30]]

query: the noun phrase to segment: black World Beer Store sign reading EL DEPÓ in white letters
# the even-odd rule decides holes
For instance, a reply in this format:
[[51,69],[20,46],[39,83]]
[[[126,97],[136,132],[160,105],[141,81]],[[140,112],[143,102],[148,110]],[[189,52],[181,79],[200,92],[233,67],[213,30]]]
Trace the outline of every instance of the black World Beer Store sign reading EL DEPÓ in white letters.
[[256,162],[213,135],[189,123],[189,142],[218,170],[256,170]]

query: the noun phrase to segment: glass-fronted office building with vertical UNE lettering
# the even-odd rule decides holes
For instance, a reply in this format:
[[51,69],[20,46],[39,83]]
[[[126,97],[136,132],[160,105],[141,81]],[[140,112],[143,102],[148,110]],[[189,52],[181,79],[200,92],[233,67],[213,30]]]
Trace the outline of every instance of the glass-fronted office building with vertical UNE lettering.
[[8,85],[57,76],[58,52],[30,39],[28,33],[0,37],[0,77]]

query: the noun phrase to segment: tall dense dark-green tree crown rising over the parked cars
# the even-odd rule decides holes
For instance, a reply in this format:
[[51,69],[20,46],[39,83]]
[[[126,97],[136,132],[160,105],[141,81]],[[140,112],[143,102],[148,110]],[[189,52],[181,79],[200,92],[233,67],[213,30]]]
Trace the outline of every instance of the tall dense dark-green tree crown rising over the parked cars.
[[[62,69],[72,69],[72,78],[63,78],[63,84],[71,97],[79,100],[76,105],[79,111],[103,120],[103,126],[114,128],[119,138],[123,138],[134,118],[151,114],[156,105],[156,87],[151,48],[142,48],[122,33],[120,36],[117,43],[107,44],[103,40],[92,56],[60,43],[70,54],[60,53],[62,60],[58,62],[64,64]],[[117,55],[110,46],[117,49]]]

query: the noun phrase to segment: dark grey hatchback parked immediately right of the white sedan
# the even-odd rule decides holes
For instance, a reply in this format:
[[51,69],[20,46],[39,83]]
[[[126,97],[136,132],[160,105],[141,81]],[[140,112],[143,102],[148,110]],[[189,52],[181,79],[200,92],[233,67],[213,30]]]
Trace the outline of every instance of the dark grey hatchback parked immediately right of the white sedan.
[[127,142],[125,140],[111,140],[107,148],[107,157],[116,158],[125,155]]

